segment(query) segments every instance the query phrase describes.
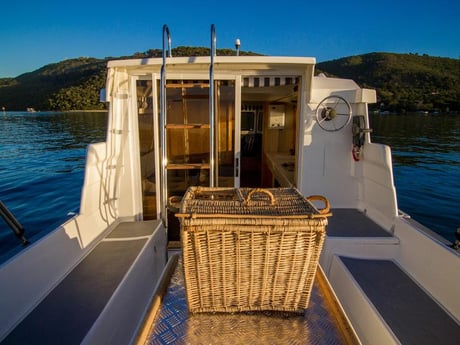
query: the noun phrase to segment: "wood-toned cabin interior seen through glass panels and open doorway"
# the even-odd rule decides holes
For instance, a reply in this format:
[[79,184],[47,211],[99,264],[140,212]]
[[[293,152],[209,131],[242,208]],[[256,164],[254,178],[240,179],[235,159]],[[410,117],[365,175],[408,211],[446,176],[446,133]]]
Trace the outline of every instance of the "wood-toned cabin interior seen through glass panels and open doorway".
[[[159,89],[159,81],[156,88]],[[215,82],[215,180],[218,187],[295,186],[299,77],[242,78]],[[152,80],[136,82],[143,188],[143,219],[158,218],[155,152],[159,131]],[[179,241],[174,213],[189,186],[209,186],[208,80],[166,84],[168,232]],[[238,103],[238,104],[237,104]],[[157,158],[158,159],[158,158]]]

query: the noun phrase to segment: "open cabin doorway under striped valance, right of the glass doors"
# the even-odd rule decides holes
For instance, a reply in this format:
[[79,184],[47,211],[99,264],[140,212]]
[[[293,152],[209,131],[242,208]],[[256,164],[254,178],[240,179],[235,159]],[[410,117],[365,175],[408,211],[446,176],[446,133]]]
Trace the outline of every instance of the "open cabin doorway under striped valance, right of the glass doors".
[[300,76],[242,78],[242,187],[296,186],[301,83]]

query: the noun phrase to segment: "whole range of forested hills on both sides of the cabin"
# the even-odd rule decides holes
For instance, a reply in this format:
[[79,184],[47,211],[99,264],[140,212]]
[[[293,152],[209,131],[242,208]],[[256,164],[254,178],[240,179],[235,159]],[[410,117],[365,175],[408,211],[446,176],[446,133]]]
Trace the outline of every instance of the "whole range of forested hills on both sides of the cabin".
[[[258,55],[241,52],[242,55]],[[177,47],[173,56],[209,55],[209,48]],[[234,55],[218,49],[217,55]],[[44,66],[16,78],[0,78],[0,108],[22,110],[104,109],[107,61],[160,57],[160,49],[105,59],[77,58]],[[414,54],[370,53],[319,63],[316,73],[350,78],[377,90],[375,108],[391,111],[460,111],[460,60]]]

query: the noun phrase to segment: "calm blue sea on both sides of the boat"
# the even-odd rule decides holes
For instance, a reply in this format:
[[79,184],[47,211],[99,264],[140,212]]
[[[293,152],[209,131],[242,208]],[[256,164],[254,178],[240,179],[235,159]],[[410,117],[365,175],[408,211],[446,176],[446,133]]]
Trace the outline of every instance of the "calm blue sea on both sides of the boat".
[[[31,241],[79,211],[86,148],[106,113],[0,112],[0,200]],[[372,115],[393,149],[399,208],[448,240],[460,227],[460,116]],[[20,242],[0,219],[0,259]],[[0,260],[1,261],[1,260]]]

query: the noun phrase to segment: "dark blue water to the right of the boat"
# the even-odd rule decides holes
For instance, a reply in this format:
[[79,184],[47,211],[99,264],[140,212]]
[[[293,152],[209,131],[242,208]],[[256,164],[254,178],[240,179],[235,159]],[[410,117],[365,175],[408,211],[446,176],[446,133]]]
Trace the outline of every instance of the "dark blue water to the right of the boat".
[[460,227],[460,116],[372,115],[392,148],[399,208],[450,241]]

